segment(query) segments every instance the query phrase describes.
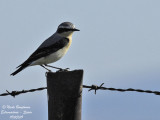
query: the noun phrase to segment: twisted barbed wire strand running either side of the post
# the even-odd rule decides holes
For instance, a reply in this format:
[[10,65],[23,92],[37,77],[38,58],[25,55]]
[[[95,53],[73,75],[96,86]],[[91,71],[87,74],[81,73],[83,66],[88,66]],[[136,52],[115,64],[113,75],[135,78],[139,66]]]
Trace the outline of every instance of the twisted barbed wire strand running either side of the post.
[[[133,89],[133,88],[128,88],[128,89],[121,89],[121,88],[107,88],[107,87],[103,87],[104,83],[102,83],[100,86],[97,85],[83,85],[83,88],[90,88],[88,91],[94,90],[95,94],[97,90],[110,90],[110,91],[119,91],[119,92],[126,92],[126,91],[130,91],[130,92],[141,92],[141,93],[152,93],[155,95],[160,95],[160,91],[151,91],[151,90],[142,90],[142,89]],[[3,93],[0,94],[0,96],[7,96],[7,95],[11,95],[13,97],[20,95],[20,94],[24,94],[24,93],[28,93],[28,92],[35,92],[35,91],[41,91],[47,89],[47,87],[41,87],[41,88],[37,88],[37,89],[30,89],[30,90],[22,90],[22,91],[12,91],[9,92],[8,90],[6,90],[7,93]]]

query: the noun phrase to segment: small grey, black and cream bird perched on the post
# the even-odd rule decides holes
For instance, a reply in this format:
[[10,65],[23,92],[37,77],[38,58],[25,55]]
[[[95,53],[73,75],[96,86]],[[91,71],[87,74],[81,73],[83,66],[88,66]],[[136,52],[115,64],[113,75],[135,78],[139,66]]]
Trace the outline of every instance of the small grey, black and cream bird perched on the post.
[[[34,65],[40,65],[41,67],[47,69],[46,67],[53,67],[48,64],[54,63],[61,59],[72,43],[72,34],[75,31],[80,31],[71,22],[61,23],[57,31],[46,39],[36,50],[33,52],[29,58],[20,64],[17,70],[10,75],[14,76],[21,72],[25,68]],[[59,70],[62,68],[53,67]],[[47,69],[49,70],[49,69]],[[50,71],[50,70],[49,70]]]

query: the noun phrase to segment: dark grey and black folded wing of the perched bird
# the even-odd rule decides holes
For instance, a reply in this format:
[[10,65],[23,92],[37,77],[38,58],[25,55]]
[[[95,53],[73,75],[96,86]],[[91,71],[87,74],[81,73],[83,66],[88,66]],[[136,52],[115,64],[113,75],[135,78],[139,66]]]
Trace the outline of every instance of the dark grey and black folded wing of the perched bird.
[[58,51],[59,49],[63,48],[69,43],[68,38],[60,37],[60,36],[51,36],[47,40],[45,40],[38,49],[21,65],[26,66],[31,64],[33,61],[50,55],[51,53],[54,53]]

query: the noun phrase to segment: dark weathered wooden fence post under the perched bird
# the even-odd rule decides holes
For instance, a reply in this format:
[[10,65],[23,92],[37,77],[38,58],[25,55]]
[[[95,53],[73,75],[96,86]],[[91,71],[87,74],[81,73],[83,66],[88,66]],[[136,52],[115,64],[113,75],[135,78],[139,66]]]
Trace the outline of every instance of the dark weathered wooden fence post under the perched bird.
[[48,120],[81,120],[83,70],[47,73]]

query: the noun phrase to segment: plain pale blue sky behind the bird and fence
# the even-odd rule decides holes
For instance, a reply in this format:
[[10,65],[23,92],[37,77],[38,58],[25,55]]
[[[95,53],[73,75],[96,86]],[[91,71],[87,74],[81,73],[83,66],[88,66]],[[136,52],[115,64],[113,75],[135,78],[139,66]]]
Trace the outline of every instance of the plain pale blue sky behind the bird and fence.
[[[159,90],[160,1],[158,0],[1,0],[0,93],[46,86],[45,70],[29,67],[10,73],[64,21],[73,35],[66,56],[52,64],[84,69],[84,84]],[[160,97],[135,92],[83,91],[83,120],[159,120]],[[47,120],[47,94],[27,93],[0,98],[3,105],[30,106],[23,120]],[[0,115],[8,120],[9,115]]]

